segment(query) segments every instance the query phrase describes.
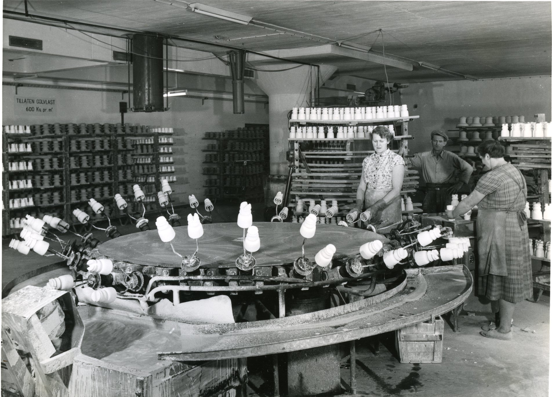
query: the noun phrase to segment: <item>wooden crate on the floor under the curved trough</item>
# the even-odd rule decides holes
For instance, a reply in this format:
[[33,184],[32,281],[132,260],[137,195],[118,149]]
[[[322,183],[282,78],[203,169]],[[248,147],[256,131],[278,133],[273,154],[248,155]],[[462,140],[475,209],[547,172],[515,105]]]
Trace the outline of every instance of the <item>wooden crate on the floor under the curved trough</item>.
[[401,363],[440,363],[443,361],[442,318],[407,326],[396,331]]

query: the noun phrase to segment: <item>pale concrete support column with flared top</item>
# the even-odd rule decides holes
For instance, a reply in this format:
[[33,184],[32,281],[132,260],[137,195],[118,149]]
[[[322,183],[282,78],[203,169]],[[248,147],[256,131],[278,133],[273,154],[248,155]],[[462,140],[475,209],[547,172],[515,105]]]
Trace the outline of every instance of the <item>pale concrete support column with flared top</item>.
[[[288,162],[288,112],[291,108],[310,104],[311,87],[323,84],[336,70],[336,66],[320,65],[320,79],[317,67],[300,66],[282,72],[268,72],[293,67],[293,63],[263,65],[267,72],[257,72],[256,83],[268,95],[268,122],[270,125],[270,174],[287,175]],[[314,106],[311,104],[311,106]]]

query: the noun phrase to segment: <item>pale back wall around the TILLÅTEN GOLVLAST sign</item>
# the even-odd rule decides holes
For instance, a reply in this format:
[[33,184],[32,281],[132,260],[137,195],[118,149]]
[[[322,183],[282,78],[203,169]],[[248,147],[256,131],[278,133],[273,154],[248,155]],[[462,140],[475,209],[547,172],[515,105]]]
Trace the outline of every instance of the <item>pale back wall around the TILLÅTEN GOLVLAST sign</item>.
[[[116,123],[120,122],[119,101],[121,94],[72,89],[18,88],[19,95],[36,95],[55,98],[56,116],[19,116],[14,114],[15,87],[2,87],[2,124],[31,125],[59,123]],[[126,96],[125,96],[126,98]],[[173,199],[188,203],[188,195],[204,198],[202,175],[204,149],[214,141],[201,140],[206,131],[232,130],[246,123],[268,124],[268,106],[245,103],[245,114],[232,113],[232,102],[226,100],[172,97],[170,110],[152,113],[127,113],[125,122],[174,128],[173,159],[177,182],[171,184]]]

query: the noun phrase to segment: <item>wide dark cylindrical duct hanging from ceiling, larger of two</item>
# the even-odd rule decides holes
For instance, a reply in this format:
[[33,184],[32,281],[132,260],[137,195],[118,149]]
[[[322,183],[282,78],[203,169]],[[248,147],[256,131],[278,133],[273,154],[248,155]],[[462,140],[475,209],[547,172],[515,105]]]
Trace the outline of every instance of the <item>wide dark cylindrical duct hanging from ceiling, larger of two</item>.
[[134,112],[165,111],[163,106],[163,37],[132,36]]

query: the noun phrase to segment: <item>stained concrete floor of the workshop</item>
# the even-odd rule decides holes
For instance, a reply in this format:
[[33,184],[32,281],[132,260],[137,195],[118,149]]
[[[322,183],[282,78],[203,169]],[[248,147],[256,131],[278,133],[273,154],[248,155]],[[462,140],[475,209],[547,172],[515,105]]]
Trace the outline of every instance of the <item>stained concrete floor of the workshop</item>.
[[[233,222],[236,205],[217,206],[214,222]],[[177,209],[184,218],[190,208]],[[263,205],[253,210],[254,220],[264,218]],[[149,217],[153,219],[153,216]],[[119,226],[121,233],[132,233],[131,224]],[[185,224],[185,221],[183,222]],[[155,227],[155,223],[154,226]],[[95,230],[100,240],[105,235]],[[45,264],[59,261],[57,257],[39,257],[34,253],[21,255],[8,248],[9,239],[2,241],[2,287],[9,280]],[[471,297],[473,301],[475,298]],[[473,302],[472,302],[473,303]],[[466,307],[477,307],[466,305]],[[545,293],[538,303],[523,301],[514,312],[513,340],[491,340],[479,335],[480,327],[493,315],[480,306],[481,312],[463,312],[459,332],[445,323],[443,361],[438,364],[402,364],[395,352],[395,335],[380,335],[379,356],[373,352],[374,340],[357,341],[357,394],[370,396],[400,396],[417,394],[440,396],[548,396],[549,395],[549,334],[550,296]],[[447,316],[444,316],[447,319]],[[525,331],[528,330],[528,331]],[[268,364],[267,364],[268,363]],[[269,357],[250,359],[250,396],[272,396],[272,360]],[[342,360],[343,393],[349,383],[348,358]],[[284,395],[284,385],[280,393]]]

